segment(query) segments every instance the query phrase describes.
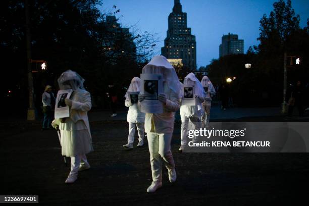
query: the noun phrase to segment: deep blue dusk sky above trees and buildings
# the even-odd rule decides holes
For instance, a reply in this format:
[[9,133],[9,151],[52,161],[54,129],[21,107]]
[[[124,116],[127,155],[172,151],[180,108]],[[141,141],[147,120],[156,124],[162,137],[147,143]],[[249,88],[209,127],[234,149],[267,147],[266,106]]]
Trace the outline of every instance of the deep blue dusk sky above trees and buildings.
[[[244,52],[250,45],[257,45],[260,19],[273,10],[274,0],[180,0],[182,11],[187,13],[187,26],[196,36],[197,68],[219,58],[219,45],[223,34],[238,34],[244,39]],[[141,31],[158,33],[157,55],[161,54],[168,16],[174,0],[104,0],[102,11],[120,9],[116,16],[123,27],[137,24]],[[300,15],[300,26],[306,26],[309,17],[308,0],[292,0],[295,14]],[[122,15],[122,16],[121,16]]]

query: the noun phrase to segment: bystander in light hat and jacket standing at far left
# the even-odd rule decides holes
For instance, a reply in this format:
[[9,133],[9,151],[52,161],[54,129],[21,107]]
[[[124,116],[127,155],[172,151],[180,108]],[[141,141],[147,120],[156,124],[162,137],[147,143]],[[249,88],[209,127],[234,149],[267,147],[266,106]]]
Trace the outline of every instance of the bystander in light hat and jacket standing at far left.
[[42,130],[49,129],[53,120],[53,106],[55,105],[55,96],[52,92],[52,86],[47,85],[42,94],[43,104],[43,125]]

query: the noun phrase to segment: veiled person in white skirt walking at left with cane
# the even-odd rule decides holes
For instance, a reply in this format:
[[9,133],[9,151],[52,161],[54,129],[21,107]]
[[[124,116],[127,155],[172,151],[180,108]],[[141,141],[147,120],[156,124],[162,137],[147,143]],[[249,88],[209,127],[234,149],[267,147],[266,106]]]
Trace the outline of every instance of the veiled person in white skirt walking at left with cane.
[[90,93],[83,86],[84,79],[68,70],[58,78],[61,90],[73,89],[65,104],[70,107],[70,117],[55,119],[52,123],[61,134],[62,155],[71,157],[71,172],[66,183],[77,179],[78,171],[90,168],[86,153],[93,151],[87,112],[91,109]]

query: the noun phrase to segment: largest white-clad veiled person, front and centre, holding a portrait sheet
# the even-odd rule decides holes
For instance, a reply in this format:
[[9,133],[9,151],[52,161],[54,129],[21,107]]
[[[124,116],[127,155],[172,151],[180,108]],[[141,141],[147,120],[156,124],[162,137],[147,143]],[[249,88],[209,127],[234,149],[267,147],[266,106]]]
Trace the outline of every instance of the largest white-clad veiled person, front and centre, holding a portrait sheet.
[[[142,73],[163,75],[164,93],[158,95],[158,99],[163,103],[163,113],[146,113],[145,117],[145,132],[147,133],[152,171],[152,183],[147,188],[147,192],[155,192],[162,186],[162,162],[168,169],[170,182],[176,181],[171,140],[174,130],[174,113],[179,110],[179,98],[182,93],[176,71],[165,57],[153,57],[142,69]],[[143,99],[143,94],[140,94],[139,101],[143,101]]]

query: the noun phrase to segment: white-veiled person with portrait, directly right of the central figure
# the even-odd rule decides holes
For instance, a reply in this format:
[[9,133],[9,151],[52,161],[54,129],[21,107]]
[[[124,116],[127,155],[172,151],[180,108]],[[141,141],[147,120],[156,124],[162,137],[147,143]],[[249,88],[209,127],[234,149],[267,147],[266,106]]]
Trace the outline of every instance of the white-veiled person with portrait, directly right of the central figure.
[[[206,93],[201,85],[201,83],[198,81],[198,79],[195,77],[195,75],[191,72],[188,74],[184,80],[183,84],[195,84],[195,106],[190,105],[181,105],[180,107],[180,117],[181,117],[181,146],[179,148],[180,151],[183,150],[183,147],[187,145],[187,138],[188,138],[188,126],[189,121],[191,122],[191,129],[198,130],[201,128],[201,122],[200,118],[203,115],[203,109],[202,109],[202,102],[204,101],[204,98],[206,96]],[[193,128],[193,125],[194,128]]]

